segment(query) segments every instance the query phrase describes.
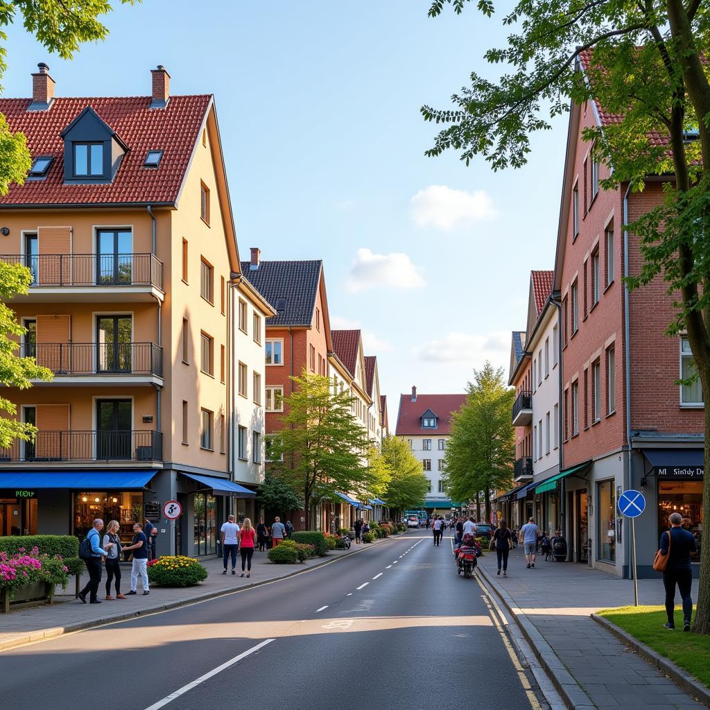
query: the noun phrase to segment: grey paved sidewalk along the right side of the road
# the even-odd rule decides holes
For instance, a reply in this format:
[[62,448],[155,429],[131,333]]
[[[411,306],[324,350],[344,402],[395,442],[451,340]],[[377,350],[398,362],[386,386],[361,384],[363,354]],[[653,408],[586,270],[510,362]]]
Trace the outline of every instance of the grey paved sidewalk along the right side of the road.
[[[508,574],[496,576],[496,554],[479,571],[501,596],[569,708],[690,710],[701,705],[590,618],[602,608],[633,604],[633,582],[572,562],[526,569],[522,546],[510,551]],[[662,604],[660,579],[640,579],[639,601]],[[693,583],[697,599],[697,580]]]

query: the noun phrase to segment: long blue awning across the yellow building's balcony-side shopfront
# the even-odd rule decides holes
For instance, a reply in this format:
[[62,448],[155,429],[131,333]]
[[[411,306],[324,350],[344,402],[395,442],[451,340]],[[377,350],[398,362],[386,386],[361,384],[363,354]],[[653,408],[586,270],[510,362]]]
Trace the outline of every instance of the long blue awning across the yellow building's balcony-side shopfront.
[[145,488],[158,471],[0,471],[0,488],[72,488],[131,491]]

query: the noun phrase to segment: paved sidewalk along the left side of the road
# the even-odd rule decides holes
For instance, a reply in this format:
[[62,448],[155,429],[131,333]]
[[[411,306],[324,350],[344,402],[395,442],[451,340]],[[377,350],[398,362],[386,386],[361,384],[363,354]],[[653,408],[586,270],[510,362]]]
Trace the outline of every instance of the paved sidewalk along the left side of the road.
[[[16,646],[33,643],[35,641],[47,640],[62,633],[99,626],[99,624],[109,621],[122,621],[125,618],[140,616],[141,614],[164,609],[183,606],[187,603],[212,599],[215,596],[229,594],[236,589],[244,589],[250,586],[263,584],[265,581],[273,579],[283,579],[293,574],[302,572],[304,569],[320,567],[323,564],[332,562],[339,557],[354,555],[363,550],[386,544],[389,540],[398,540],[403,535],[395,535],[377,540],[370,545],[352,545],[350,550],[332,550],[326,557],[315,557],[307,559],[302,564],[273,564],[266,557],[266,552],[256,552],[251,562],[251,577],[239,577],[241,572],[241,559],[237,558],[236,576],[231,574],[231,570],[226,576],[222,574],[222,559],[209,557],[200,559],[200,562],[207,567],[209,576],[197,586],[189,586],[182,589],[163,588],[155,586],[151,589],[149,596],[143,596],[141,583],[138,581],[138,595],[129,596],[128,599],[106,601],[106,572],[102,577],[99,586],[100,604],[83,604],[74,597],[74,578],[72,577],[66,591],[58,588],[55,595],[55,603],[51,606],[33,606],[9,614],[0,614],[0,651]],[[121,591],[126,594],[131,589],[131,567],[121,567]],[[86,584],[88,577],[82,577],[82,586]]]

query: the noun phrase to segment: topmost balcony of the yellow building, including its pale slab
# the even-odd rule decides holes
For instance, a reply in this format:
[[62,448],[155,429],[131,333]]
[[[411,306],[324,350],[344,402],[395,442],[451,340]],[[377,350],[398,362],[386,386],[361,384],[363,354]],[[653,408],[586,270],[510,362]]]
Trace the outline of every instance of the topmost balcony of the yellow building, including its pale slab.
[[0,254],[0,259],[23,264],[32,273],[28,293],[15,301],[163,300],[163,262],[155,254]]

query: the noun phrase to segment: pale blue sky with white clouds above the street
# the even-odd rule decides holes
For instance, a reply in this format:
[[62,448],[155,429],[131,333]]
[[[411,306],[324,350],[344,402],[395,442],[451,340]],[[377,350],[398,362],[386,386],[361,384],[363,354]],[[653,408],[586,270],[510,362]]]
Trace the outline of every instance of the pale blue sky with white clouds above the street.
[[489,73],[505,38],[502,13],[429,4],[146,0],[71,62],[11,28],[4,95],[28,96],[40,61],[58,96],[145,95],[157,64],[173,94],[214,94],[242,258],[324,260],[333,326],[364,330],[393,425],[413,384],[461,391],[485,359],[507,372],[530,269],[552,268],[567,130],[522,170],[426,158],[420,106]]

